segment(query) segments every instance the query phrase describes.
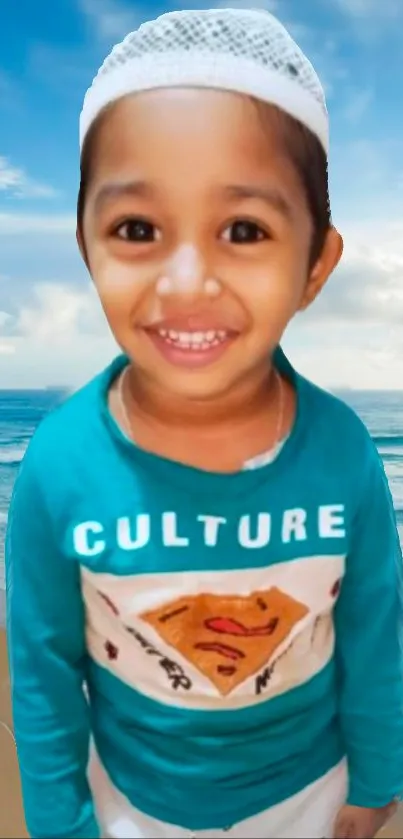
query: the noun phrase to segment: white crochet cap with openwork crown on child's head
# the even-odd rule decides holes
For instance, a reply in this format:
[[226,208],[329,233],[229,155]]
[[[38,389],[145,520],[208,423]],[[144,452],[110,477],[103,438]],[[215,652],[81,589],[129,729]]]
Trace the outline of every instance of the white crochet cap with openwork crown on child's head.
[[228,90],[277,105],[309,128],[326,153],[329,125],[319,78],[269,12],[205,9],[169,12],[115,46],[86,93],[80,147],[111,102],[167,87]]

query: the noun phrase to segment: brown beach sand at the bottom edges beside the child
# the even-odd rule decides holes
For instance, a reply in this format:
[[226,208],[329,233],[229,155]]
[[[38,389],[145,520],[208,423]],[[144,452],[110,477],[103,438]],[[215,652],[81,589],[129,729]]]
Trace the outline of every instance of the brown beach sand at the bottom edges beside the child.
[[[4,626],[4,592],[0,589],[0,626]],[[12,728],[10,683],[5,631],[0,629],[0,721]],[[0,726],[0,839],[27,837],[15,746],[10,734]],[[403,839],[403,807],[382,832],[383,839]]]

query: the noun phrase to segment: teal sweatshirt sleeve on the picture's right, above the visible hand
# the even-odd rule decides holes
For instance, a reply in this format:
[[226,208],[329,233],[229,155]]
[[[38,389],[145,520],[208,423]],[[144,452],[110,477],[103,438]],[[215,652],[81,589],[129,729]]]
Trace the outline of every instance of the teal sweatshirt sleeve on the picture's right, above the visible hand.
[[336,606],[348,803],[383,807],[403,790],[403,564],[391,493],[370,442]]

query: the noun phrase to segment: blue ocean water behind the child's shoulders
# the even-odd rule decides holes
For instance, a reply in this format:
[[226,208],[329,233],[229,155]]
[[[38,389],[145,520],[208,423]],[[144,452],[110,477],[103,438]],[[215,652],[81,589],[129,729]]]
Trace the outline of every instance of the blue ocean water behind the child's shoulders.
[[[403,541],[403,392],[340,395],[364,420],[382,455]],[[19,463],[37,425],[65,396],[54,389],[0,391],[0,588],[7,509]]]

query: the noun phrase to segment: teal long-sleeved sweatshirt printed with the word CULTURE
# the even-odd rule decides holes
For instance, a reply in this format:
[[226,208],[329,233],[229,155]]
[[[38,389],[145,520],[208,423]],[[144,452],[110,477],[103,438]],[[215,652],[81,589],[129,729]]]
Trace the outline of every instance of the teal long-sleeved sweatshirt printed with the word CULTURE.
[[[402,555],[355,414],[297,392],[273,463],[212,474],[128,441],[125,358],[49,415],[6,545],[15,734],[33,837],[95,837],[89,740],[144,813],[234,824],[347,755],[352,804],[403,788]],[[83,691],[88,688],[89,701]]]

